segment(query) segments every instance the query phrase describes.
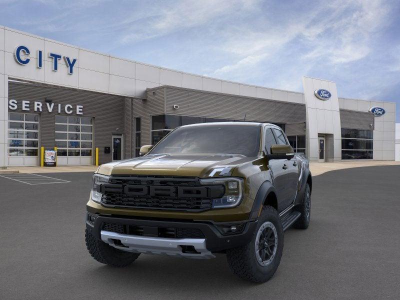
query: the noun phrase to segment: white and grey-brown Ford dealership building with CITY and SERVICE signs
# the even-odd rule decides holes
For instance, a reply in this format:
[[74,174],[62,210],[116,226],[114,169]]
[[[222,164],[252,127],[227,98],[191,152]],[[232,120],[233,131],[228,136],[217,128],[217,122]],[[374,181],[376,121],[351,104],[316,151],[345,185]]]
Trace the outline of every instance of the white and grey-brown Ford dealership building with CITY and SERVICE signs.
[[[395,103],[341,98],[333,81],[303,77],[304,92],[171,70],[0,26],[0,168],[138,155],[177,126],[278,124],[310,160],[394,160]],[[234,145],[233,145],[234,146]]]

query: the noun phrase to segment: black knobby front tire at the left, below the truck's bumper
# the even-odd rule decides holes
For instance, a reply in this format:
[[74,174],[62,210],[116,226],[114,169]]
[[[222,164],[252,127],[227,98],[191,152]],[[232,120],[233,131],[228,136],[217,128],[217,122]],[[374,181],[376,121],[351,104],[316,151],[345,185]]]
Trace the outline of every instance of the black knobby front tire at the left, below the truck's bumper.
[[115,267],[123,267],[131,264],[140,253],[131,253],[116,249],[102,240],[95,238],[90,232],[84,233],[86,248],[90,255],[98,262]]

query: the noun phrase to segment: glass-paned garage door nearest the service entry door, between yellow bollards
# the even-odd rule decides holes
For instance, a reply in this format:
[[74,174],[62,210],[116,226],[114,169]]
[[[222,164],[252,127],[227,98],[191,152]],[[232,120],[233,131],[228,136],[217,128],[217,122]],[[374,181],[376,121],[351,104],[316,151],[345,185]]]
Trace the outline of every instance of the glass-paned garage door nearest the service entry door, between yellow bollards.
[[93,119],[56,115],[55,146],[58,165],[92,164]]

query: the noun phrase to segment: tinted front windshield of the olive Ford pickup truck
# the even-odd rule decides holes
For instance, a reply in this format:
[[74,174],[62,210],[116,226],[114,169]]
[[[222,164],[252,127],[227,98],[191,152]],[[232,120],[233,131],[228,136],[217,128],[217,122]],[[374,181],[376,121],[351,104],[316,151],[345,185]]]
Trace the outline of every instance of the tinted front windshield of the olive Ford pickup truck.
[[256,156],[260,127],[252,125],[205,125],[180,127],[152,150],[160,153],[224,153]]

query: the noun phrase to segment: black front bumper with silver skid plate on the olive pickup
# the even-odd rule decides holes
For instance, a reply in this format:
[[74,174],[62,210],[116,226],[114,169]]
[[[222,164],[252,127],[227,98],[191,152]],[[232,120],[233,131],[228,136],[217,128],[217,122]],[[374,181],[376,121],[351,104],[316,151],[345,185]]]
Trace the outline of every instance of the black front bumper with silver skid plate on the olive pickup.
[[[88,219],[86,217],[87,230],[94,237],[115,248],[131,252],[164,253],[191,258],[211,258],[213,257],[212,252],[221,252],[245,245],[252,239],[256,226],[256,220],[235,222],[236,225],[243,224],[241,232],[224,235],[220,233],[216,225],[224,225],[226,222],[140,219],[101,214],[91,217],[90,221]],[[110,229],[103,230],[104,223],[131,225],[144,229],[142,229],[141,235],[125,234],[124,232],[112,232]],[[199,229],[203,236],[196,238],[159,237],[157,232],[165,228]]]

